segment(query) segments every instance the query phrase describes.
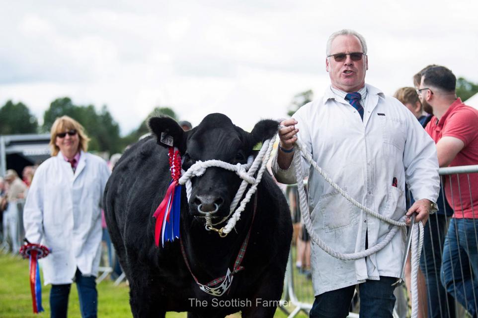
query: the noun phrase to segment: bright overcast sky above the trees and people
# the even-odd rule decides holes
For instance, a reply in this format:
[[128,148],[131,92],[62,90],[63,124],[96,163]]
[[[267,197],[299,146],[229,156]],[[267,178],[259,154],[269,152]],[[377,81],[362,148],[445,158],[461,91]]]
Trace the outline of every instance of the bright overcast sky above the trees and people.
[[[0,105],[107,105],[123,134],[155,106],[193,125],[213,112],[250,130],[329,83],[325,42],[352,28],[366,82],[393,94],[427,64],[478,82],[478,1],[0,0]],[[94,4],[93,4],[94,3]]]

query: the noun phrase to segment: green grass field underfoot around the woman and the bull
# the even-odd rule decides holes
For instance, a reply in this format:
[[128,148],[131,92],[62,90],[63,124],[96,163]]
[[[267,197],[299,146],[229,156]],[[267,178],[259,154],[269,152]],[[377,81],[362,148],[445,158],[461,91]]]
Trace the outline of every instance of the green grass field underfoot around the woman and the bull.
[[[0,254],[0,318],[41,318],[50,316],[48,297],[50,285],[42,287],[42,304],[45,312],[33,314],[31,294],[28,281],[28,260],[10,254]],[[113,286],[109,279],[97,285],[98,289],[98,317],[101,318],[131,318],[129,307],[129,288],[126,284]],[[291,307],[287,310],[292,311]],[[68,306],[69,318],[81,318],[78,293],[75,286],[70,292]],[[229,316],[239,318],[240,314]],[[274,318],[287,316],[277,310]],[[305,314],[296,316],[306,318]],[[166,318],[186,318],[185,313],[167,313]]]

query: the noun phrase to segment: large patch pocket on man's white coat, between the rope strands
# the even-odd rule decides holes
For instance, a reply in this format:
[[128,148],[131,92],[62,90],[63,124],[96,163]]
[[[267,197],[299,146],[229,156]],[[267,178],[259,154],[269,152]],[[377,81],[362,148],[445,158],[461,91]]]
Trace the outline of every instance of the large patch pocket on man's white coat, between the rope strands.
[[[344,191],[347,192],[347,188],[344,188]],[[317,206],[325,232],[333,232],[357,224],[357,213],[352,203],[336,190],[320,196]]]

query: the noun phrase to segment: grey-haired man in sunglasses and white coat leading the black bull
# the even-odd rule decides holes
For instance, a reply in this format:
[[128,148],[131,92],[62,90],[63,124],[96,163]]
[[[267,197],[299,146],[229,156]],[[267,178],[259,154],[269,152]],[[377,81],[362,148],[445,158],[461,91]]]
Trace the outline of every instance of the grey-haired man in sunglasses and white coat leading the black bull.
[[[324,95],[281,123],[272,171],[281,183],[296,183],[291,165],[299,139],[313,160],[354,199],[395,220],[405,217],[405,183],[417,200],[406,212],[426,222],[436,207],[438,163],[433,140],[395,98],[365,84],[365,39],[355,31],[333,33],[325,68],[331,85]],[[335,191],[303,160],[309,175],[309,208],[315,233],[339,253],[364,251],[380,243],[390,224],[369,216]],[[409,222],[409,218],[407,218]],[[310,317],[346,317],[355,286],[360,317],[392,317],[392,284],[400,275],[404,240],[398,231],[381,251],[340,260],[312,245],[315,302]]]

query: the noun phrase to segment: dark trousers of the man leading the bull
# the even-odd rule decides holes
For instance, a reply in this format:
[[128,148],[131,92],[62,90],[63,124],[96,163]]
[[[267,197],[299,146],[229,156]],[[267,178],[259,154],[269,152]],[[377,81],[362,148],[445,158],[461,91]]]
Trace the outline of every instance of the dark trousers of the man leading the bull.
[[[380,276],[359,284],[360,318],[392,318],[395,306],[393,283],[397,278]],[[310,318],[345,318],[348,316],[355,285],[316,296]]]

